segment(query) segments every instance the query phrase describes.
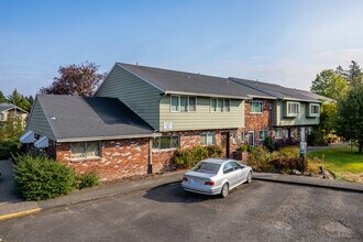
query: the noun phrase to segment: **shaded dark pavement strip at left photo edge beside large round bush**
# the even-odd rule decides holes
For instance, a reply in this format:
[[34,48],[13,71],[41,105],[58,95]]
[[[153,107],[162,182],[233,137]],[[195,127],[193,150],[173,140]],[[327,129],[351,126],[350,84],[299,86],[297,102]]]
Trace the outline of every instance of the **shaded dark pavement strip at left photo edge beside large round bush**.
[[15,191],[12,162],[10,160],[0,161],[0,205],[23,201]]

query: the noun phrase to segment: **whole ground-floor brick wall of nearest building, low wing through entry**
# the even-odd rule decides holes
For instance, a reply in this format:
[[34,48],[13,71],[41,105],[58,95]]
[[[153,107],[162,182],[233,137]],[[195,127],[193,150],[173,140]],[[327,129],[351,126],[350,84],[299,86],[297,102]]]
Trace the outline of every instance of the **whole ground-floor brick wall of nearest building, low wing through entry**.
[[[238,142],[232,142],[232,131],[238,131]],[[241,145],[241,129],[209,130],[216,133],[216,145],[221,146],[221,132],[230,132],[230,157]],[[170,132],[163,135],[179,135],[180,148],[191,148],[200,145],[200,134],[208,131]],[[70,143],[52,143],[56,152],[56,158],[76,173],[96,172],[102,180],[112,180],[134,175],[146,175],[148,165],[150,139],[130,139],[100,141],[100,157],[72,158]],[[169,172],[175,169],[175,150],[153,150],[153,173]]]

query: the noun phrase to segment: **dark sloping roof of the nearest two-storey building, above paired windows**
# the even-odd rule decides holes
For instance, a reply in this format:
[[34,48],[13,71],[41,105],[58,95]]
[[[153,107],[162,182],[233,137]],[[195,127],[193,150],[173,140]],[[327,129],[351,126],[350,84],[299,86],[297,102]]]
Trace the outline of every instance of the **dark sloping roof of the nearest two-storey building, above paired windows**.
[[161,69],[125,63],[117,63],[117,65],[160,89],[165,95],[195,95],[237,99],[250,99],[250,96],[252,95],[275,99],[271,95],[250,87],[243,87],[223,77]]

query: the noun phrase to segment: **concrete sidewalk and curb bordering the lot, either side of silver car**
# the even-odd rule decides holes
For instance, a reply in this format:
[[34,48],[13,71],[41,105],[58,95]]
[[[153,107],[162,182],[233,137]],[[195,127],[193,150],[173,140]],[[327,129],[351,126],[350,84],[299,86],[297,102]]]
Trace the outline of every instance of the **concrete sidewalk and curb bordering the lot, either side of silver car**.
[[[167,173],[164,175],[154,175],[144,179],[127,180],[116,184],[103,184],[98,187],[75,190],[69,195],[44,201],[19,201],[19,202],[2,202],[0,204],[0,221],[11,218],[16,218],[42,209],[74,205],[78,202],[91,201],[107,197],[124,195],[138,190],[146,190],[161,185],[177,183],[182,180],[185,170]],[[323,187],[330,189],[353,191],[363,194],[363,184],[336,182],[314,177],[282,175],[272,173],[254,173],[256,180],[285,183],[292,185]]]

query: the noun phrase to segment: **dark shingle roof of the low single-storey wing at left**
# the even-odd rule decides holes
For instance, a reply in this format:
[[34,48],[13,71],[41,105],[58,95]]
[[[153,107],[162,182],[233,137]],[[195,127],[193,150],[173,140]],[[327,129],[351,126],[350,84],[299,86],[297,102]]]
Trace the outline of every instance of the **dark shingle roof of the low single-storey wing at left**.
[[117,98],[63,95],[36,98],[57,141],[154,135],[153,128]]

